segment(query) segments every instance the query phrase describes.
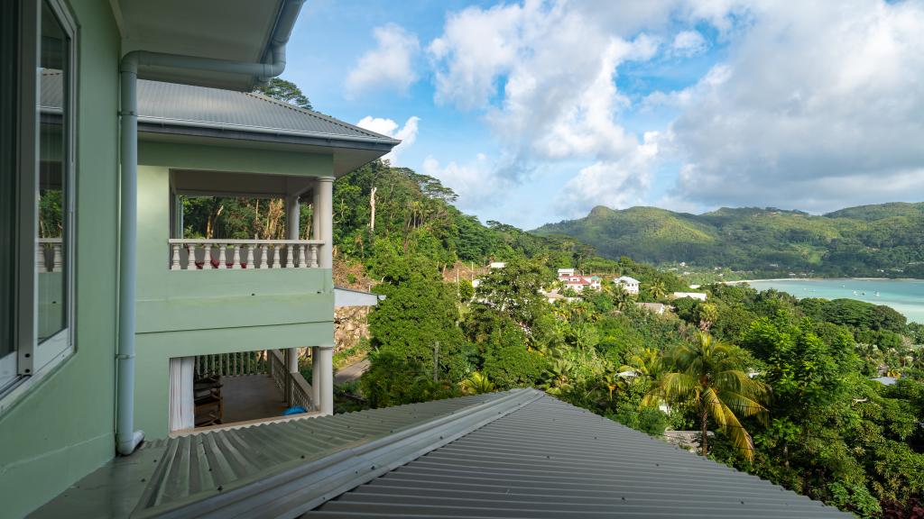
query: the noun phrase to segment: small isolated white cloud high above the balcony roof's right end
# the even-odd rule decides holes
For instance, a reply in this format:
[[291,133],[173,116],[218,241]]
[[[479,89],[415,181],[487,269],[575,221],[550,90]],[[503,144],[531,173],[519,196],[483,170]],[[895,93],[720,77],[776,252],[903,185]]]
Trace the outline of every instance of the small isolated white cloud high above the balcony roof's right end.
[[376,46],[359,58],[346,77],[347,96],[371,89],[393,89],[407,92],[417,73],[414,58],[420,52],[417,36],[395,24],[372,31]]

